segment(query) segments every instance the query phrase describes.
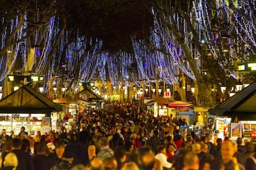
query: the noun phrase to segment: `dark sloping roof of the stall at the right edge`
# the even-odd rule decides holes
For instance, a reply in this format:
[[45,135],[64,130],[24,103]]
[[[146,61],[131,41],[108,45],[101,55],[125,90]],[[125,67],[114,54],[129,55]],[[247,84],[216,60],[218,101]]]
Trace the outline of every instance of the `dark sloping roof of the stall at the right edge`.
[[213,116],[227,116],[239,120],[256,120],[256,81],[208,112]]

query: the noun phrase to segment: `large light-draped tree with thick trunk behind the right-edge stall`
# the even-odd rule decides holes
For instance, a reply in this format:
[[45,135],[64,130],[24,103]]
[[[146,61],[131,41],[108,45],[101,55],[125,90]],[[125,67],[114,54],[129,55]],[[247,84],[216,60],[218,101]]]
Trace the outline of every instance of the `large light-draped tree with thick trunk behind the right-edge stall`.
[[[251,12],[254,14],[252,4],[241,4],[239,13],[254,8]],[[243,22],[249,16],[236,14],[234,9],[237,10],[233,1],[221,4],[218,1],[155,1],[153,12],[160,43],[166,47],[165,52],[177,60],[177,65],[184,65],[184,61],[189,63],[189,67],[177,69],[194,79],[198,89],[203,89],[198,91],[198,97],[210,105],[213,103],[212,84],[220,87],[219,83],[223,83],[221,80],[226,79],[227,75],[237,78],[233,72],[237,69],[234,64],[248,60],[246,55],[254,54],[255,50],[255,44],[250,41],[255,41],[252,38],[255,29],[246,29],[249,25]],[[254,17],[249,18],[254,22]],[[247,31],[251,34],[249,38],[244,37]],[[237,37],[242,37],[242,41]],[[250,46],[249,49],[241,49],[245,44]],[[177,53],[176,49],[181,51]],[[239,56],[238,53],[243,50],[246,52]],[[201,62],[199,65],[198,58]],[[206,69],[207,75],[204,74]]]

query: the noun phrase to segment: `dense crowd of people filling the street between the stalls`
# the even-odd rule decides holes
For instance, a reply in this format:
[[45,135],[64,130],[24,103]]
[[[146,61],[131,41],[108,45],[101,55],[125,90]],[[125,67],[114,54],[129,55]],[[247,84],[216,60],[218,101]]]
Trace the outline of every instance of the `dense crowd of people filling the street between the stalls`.
[[77,114],[72,129],[0,136],[1,169],[256,169],[254,144],[193,131],[182,136],[181,117],[160,116],[136,103]]

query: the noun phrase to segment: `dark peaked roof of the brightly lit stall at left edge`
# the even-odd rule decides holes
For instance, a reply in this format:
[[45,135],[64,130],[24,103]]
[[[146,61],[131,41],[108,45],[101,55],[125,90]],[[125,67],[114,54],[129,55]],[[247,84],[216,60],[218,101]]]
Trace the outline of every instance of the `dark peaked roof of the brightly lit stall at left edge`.
[[0,113],[51,113],[61,110],[60,105],[28,85],[20,87],[0,100]]

